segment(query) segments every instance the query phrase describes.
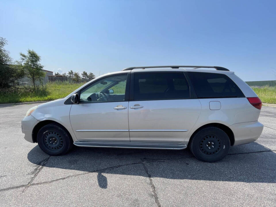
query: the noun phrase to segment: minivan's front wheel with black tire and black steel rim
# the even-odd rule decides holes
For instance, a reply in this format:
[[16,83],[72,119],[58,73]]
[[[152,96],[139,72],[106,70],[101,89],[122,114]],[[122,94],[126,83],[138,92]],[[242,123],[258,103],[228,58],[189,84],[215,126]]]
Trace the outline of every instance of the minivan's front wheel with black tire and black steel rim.
[[64,155],[72,147],[73,141],[66,129],[59,124],[47,124],[37,133],[37,143],[49,155]]

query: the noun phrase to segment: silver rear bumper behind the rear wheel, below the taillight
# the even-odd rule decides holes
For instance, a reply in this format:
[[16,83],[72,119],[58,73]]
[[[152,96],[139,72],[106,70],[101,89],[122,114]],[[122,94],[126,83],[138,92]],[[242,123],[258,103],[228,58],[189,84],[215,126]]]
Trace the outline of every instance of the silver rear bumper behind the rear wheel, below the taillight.
[[258,121],[254,121],[233,124],[229,128],[234,133],[234,145],[241,145],[256,141],[260,137],[264,125]]

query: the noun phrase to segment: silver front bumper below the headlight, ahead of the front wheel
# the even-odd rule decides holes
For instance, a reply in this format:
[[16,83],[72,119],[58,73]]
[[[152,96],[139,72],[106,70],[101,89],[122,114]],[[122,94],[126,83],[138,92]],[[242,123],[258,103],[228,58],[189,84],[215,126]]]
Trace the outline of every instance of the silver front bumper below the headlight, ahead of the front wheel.
[[25,116],[21,121],[22,133],[25,134],[24,139],[28,142],[34,143],[32,141],[32,130],[34,129],[35,125],[39,120],[34,118],[32,115]]

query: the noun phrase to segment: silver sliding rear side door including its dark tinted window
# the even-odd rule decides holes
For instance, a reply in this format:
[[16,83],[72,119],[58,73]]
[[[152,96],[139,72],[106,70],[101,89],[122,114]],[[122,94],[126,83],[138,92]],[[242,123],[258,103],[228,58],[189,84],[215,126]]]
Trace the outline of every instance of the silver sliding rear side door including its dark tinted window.
[[185,140],[201,110],[190,99],[183,72],[134,72],[129,101],[130,141],[172,143]]

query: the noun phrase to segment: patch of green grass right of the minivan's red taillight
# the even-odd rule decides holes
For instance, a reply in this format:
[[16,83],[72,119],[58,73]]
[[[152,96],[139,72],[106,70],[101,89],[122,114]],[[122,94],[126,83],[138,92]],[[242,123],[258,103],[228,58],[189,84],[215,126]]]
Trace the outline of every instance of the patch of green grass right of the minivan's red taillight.
[[276,104],[276,87],[261,87],[252,89],[263,103]]

